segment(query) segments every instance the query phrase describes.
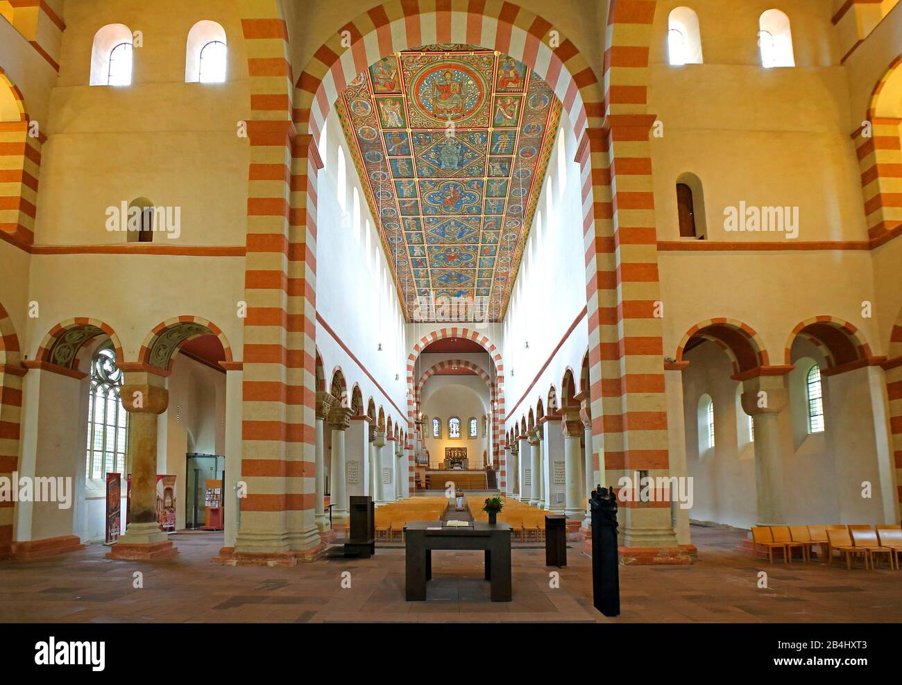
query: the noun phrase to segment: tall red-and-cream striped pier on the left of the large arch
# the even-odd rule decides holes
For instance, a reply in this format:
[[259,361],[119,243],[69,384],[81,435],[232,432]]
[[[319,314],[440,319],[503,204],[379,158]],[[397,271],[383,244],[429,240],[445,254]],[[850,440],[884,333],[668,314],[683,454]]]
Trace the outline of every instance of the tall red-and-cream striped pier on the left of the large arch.
[[[242,502],[235,558],[308,559],[314,523],[318,154],[291,121],[288,31],[274,0],[240,0],[251,116],[244,298]],[[256,557],[256,558],[254,558]]]

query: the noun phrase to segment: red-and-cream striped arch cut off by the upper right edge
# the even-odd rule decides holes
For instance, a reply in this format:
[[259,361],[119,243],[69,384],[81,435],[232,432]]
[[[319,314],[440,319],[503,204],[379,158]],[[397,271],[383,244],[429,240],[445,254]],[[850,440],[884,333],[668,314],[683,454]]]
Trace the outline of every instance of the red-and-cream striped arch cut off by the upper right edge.
[[[902,119],[882,112],[880,94],[897,68],[902,55],[892,61],[874,87],[867,113],[870,136],[863,126],[851,133],[861,166],[864,214],[868,236],[879,238],[902,224]],[[884,98],[887,99],[887,98]],[[897,102],[889,103],[895,108]]]

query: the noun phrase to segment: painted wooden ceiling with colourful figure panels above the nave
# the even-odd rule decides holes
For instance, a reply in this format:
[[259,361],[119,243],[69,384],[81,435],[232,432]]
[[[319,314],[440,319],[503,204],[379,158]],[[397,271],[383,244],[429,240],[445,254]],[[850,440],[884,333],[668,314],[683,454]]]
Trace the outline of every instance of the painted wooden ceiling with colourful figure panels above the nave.
[[450,297],[500,321],[560,119],[548,85],[493,50],[428,45],[373,64],[337,112],[408,321]]

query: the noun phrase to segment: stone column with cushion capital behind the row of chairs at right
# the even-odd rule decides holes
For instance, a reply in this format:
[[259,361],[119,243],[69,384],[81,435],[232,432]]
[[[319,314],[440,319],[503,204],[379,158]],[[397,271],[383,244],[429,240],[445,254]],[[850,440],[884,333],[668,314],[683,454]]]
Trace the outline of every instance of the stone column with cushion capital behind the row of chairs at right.
[[758,525],[785,525],[783,514],[783,454],[780,447],[780,412],[788,404],[784,376],[758,376],[744,380],[742,409],[755,430],[755,493]]

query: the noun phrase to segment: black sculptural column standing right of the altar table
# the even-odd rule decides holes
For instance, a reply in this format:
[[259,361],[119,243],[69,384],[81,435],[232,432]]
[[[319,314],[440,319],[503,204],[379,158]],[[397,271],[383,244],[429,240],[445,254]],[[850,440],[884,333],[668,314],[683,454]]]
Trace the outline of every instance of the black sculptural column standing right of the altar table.
[[620,616],[620,561],[617,559],[617,495],[597,486],[592,510],[593,604],[604,616]]

